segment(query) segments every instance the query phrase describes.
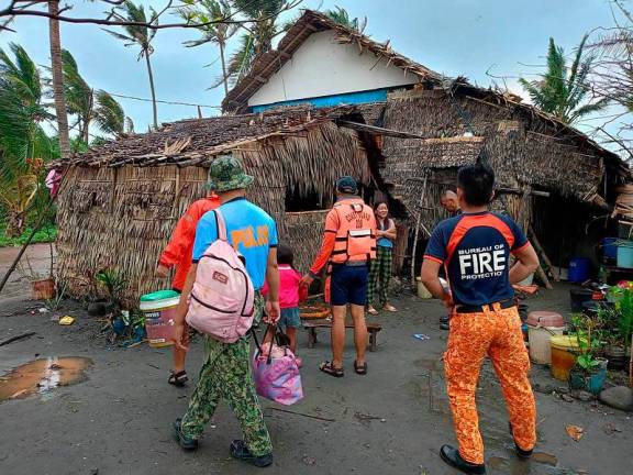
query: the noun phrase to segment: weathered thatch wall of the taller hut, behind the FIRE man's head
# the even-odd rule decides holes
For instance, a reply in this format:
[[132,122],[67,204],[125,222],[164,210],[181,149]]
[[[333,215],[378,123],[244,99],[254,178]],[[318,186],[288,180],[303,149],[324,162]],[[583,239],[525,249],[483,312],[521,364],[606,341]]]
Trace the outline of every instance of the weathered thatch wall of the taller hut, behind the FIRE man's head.
[[[486,151],[498,187],[523,192],[556,189],[580,201],[597,197],[604,177],[604,161],[595,147],[556,136],[552,124],[525,109],[486,102],[444,90],[415,90],[389,96],[385,128],[425,137],[385,137],[382,178],[412,216],[422,212],[431,229],[444,218],[438,207],[445,189],[454,189],[458,167],[475,163]],[[426,186],[420,208],[424,177]],[[507,195],[496,203],[526,223],[530,200]],[[528,217],[524,216],[526,210]]]

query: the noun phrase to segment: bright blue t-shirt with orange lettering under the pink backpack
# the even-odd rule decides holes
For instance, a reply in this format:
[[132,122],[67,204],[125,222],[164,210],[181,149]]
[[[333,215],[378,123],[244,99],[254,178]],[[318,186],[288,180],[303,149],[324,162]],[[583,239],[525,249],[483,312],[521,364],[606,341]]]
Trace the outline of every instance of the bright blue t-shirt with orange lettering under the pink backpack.
[[[231,245],[244,256],[246,272],[256,290],[264,286],[270,247],[277,246],[275,220],[262,208],[245,198],[225,202],[219,208],[226,223],[226,235]],[[193,263],[218,239],[215,213],[207,212],[196,228]]]

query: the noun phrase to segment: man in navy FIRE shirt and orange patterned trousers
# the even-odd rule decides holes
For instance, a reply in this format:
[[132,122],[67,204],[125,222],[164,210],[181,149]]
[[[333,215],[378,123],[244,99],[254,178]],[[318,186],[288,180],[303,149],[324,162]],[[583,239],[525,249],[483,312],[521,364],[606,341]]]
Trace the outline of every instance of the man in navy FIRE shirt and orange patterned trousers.
[[[511,218],[488,211],[493,187],[495,173],[489,166],[479,163],[459,169],[457,197],[463,213],[435,228],[422,263],[422,281],[453,309],[444,369],[459,445],[444,445],[440,455],[466,474],[486,473],[475,402],[486,356],[501,383],[518,456],[530,457],[536,443],[530,357],[512,284],[532,274],[538,258]],[[515,258],[513,265],[511,255]],[[438,278],[442,266],[449,292]]]

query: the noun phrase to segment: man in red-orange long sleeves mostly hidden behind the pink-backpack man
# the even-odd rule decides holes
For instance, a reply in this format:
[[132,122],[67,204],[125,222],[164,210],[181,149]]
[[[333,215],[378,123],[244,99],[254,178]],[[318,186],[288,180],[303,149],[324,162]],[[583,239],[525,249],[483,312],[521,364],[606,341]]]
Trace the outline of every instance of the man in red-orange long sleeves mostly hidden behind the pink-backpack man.
[[[158,259],[158,267],[156,268],[156,275],[166,278],[169,269],[176,266],[176,274],[174,275],[174,280],[171,280],[171,288],[174,290],[182,292],[187,274],[189,273],[189,268],[191,268],[191,255],[193,253],[193,241],[196,239],[198,221],[200,221],[200,218],[202,218],[206,212],[219,206],[220,198],[214,194],[209,195],[191,203],[187,211],[185,211],[185,214],[178,220],[171,239],[167,247],[165,247],[165,251],[163,251]],[[185,334],[188,339],[188,329]],[[187,372],[185,371],[187,352],[180,350],[177,345],[174,345],[173,352],[174,368],[169,375],[168,383],[174,386],[184,386],[188,380]]]

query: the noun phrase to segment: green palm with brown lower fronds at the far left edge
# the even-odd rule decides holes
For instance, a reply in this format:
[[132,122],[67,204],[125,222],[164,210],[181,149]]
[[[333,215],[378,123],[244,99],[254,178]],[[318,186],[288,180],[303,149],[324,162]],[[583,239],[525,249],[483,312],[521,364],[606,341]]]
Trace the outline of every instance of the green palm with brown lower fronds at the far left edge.
[[11,43],[12,59],[0,49],[0,207],[7,234],[20,234],[26,213],[42,188],[46,159],[54,143],[41,126],[55,117],[42,103],[43,84],[24,48]]

